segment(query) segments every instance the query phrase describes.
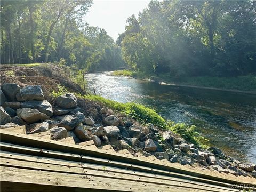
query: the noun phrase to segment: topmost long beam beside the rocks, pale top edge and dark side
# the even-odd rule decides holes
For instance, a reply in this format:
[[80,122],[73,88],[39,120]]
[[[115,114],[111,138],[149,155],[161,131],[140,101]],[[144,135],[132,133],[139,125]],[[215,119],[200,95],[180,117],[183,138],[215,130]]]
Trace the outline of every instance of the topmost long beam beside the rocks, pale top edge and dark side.
[[191,177],[196,177],[196,179],[205,178],[205,179],[208,179],[209,181],[214,180],[217,183],[226,182],[226,183],[237,184],[237,185],[248,184],[251,186],[254,185],[254,183],[256,183],[256,179],[252,179],[252,178],[246,178],[241,180],[240,178],[239,179],[229,178],[228,175],[226,175],[225,178],[223,178],[221,174],[217,174],[217,173],[209,175],[209,174],[205,174],[203,171],[190,171],[187,169],[180,169],[175,166],[159,165],[157,163],[142,161],[141,159],[138,159],[138,158],[124,157],[123,155],[122,156],[118,155],[118,153],[115,153],[115,154],[101,153],[100,150],[84,149],[84,147],[77,146],[77,145],[70,145],[70,146],[63,145],[63,143],[58,141],[53,141],[53,140],[49,141],[49,140],[44,140],[40,138],[29,137],[29,135],[26,135],[25,137],[20,134],[14,134],[12,132],[7,132],[3,130],[0,130],[0,137],[2,141],[20,143],[21,145],[25,145],[28,147],[44,146],[44,149],[49,149],[49,150],[54,149],[62,152],[72,151],[73,153],[81,154],[81,155],[90,155],[92,157],[101,157],[105,159],[116,159],[116,161],[119,161],[119,162],[127,162],[127,163],[132,163],[134,165],[147,166],[147,167],[151,167],[152,169],[158,169],[163,171],[167,170],[167,171],[170,171],[173,173],[175,172],[178,174],[187,174],[187,175],[190,175]]

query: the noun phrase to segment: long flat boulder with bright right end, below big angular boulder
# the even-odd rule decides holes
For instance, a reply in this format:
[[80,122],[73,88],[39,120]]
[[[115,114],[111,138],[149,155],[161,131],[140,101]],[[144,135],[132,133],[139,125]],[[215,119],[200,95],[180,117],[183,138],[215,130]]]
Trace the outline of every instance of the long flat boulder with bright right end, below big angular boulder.
[[22,102],[21,108],[38,109],[41,113],[44,113],[49,117],[53,116],[52,105],[46,100]]

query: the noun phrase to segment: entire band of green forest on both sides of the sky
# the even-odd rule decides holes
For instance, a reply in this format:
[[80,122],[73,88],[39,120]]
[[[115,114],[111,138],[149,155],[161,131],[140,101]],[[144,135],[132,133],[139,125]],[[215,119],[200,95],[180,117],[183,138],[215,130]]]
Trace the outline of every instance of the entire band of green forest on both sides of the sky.
[[1,63],[127,65],[173,77],[256,73],[256,1],[154,0],[127,19],[116,43],[83,21],[92,3],[1,1]]

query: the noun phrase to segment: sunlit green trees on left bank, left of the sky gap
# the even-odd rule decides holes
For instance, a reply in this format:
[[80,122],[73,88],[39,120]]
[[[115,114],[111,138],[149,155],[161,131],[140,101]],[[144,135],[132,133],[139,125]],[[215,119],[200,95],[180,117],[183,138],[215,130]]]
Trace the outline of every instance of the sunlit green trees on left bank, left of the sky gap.
[[91,0],[1,1],[1,63],[62,62],[90,71],[123,66],[104,29],[82,18]]

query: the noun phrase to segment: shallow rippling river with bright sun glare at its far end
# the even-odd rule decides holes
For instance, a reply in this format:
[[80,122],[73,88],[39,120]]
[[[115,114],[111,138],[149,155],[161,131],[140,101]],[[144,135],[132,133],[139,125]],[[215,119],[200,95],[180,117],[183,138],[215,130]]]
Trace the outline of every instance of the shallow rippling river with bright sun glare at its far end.
[[256,163],[256,95],[162,85],[139,79],[86,74],[97,95],[154,108],[166,119],[194,124],[209,145],[241,161]]

